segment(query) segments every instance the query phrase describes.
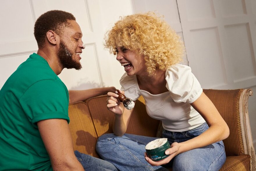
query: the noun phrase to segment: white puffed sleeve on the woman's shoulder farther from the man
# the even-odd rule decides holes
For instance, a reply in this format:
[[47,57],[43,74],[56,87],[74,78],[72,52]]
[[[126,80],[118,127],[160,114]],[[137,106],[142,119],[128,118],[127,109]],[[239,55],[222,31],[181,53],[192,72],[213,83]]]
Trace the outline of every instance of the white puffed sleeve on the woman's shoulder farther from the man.
[[181,64],[166,71],[166,88],[176,103],[193,103],[203,91],[191,68]]

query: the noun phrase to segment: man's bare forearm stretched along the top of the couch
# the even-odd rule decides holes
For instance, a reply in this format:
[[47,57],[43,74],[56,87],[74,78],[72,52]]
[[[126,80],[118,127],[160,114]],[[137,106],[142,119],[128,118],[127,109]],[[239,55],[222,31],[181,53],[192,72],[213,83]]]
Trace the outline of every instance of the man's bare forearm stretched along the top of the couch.
[[115,87],[93,88],[88,90],[69,90],[69,103],[85,101],[91,97],[107,94],[108,92],[115,92],[115,90]]

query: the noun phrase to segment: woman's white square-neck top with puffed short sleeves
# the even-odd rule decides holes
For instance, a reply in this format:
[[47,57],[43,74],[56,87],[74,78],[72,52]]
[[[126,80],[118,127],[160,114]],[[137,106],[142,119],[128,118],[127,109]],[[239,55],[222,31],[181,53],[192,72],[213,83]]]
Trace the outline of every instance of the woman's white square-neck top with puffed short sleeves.
[[205,123],[202,116],[189,104],[202,94],[201,85],[191,68],[175,64],[166,70],[165,75],[168,92],[150,94],[140,90],[136,75],[128,76],[126,73],[120,79],[121,90],[125,91],[127,98],[134,101],[142,95],[147,114],[161,120],[165,130],[183,132]]

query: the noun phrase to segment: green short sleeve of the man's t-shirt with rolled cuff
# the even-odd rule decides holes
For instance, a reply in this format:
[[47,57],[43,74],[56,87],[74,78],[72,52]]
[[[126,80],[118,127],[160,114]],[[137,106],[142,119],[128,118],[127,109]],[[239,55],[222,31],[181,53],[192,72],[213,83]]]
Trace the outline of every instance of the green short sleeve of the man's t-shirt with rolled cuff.
[[31,123],[45,119],[65,119],[69,123],[69,96],[63,82],[47,79],[31,85],[20,98],[20,104]]

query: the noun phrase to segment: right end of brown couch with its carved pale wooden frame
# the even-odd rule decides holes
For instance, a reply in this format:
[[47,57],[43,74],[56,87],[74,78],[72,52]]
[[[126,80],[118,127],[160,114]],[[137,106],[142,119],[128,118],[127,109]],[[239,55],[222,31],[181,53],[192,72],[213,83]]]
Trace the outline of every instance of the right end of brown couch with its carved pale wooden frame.
[[223,140],[227,156],[249,154],[250,170],[255,170],[255,150],[253,147],[248,116],[250,89],[204,90],[230,128],[230,136]]

